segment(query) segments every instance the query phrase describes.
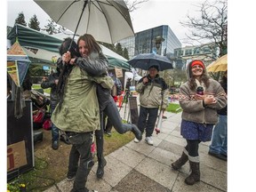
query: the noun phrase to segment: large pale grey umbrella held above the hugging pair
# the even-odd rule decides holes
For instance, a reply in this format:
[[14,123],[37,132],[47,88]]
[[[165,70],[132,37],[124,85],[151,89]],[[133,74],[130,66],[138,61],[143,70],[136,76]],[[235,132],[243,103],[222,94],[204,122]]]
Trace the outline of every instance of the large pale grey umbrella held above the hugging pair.
[[123,0],[34,1],[52,20],[79,36],[91,34],[97,41],[108,44],[134,36],[130,13]]

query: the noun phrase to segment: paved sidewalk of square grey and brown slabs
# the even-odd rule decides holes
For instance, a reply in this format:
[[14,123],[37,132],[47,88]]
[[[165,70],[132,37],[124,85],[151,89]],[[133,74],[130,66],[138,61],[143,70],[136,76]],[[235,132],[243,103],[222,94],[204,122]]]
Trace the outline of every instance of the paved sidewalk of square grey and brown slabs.
[[[122,112],[122,110],[121,110]],[[211,142],[200,144],[201,181],[188,186],[184,180],[189,173],[189,164],[180,172],[172,170],[171,164],[180,157],[186,140],[180,136],[181,113],[164,112],[161,133],[153,134],[154,146],[133,140],[122,148],[105,156],[108,164],[102,180],[96,178],[97,164],[92,168],[87,188],[99,192],[219,192],[227,191],[227,162],[209,156]],[[122,116],[123,117],[123,116]],[[73,181],[62,180],[45,192],[69,192]]]

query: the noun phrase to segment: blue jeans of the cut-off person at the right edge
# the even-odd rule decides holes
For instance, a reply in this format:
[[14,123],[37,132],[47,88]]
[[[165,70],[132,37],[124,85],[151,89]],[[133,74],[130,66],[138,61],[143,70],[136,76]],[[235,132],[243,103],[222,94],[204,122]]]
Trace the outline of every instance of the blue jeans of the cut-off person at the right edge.
[[227,116],[219,115],[219,122],[215,125],[212,134],[212,144],[209,151],[227,156],[228,153],[228,127]]

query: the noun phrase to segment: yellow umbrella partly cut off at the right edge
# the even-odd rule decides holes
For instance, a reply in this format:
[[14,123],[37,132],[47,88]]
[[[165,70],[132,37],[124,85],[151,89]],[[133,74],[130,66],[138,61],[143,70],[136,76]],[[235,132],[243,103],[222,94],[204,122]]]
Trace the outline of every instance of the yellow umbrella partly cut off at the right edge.
[[213,61],[209,66],[207,66],[208,72],[219,72],[228,70],[228,54],[223,55],[218,60]]

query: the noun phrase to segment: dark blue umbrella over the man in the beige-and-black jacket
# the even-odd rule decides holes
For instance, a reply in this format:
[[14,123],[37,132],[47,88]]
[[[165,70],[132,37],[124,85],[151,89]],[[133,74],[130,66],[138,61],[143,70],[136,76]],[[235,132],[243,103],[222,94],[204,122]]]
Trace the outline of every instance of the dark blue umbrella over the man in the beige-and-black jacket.
[[144,70],[148,70],[150,66],[154,65],[158,66],[160,71],[173,68],[171,60],[155,53],[141,53],[128,60],[128,63],[133,68],[142,68]]

